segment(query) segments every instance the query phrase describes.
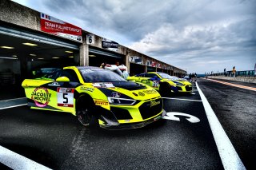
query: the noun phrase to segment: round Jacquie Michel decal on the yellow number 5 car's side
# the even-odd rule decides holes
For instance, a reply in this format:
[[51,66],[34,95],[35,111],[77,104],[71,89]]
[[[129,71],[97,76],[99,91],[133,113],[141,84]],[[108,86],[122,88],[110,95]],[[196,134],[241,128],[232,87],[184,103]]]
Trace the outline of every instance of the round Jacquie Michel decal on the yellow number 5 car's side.
[[35,105],[42,108],[48,105],[50,101],[51,93],[48,92],[48,89],[44,87],[38,87],[34,89],[34,92],[31,94],[31,99],[34,100]]

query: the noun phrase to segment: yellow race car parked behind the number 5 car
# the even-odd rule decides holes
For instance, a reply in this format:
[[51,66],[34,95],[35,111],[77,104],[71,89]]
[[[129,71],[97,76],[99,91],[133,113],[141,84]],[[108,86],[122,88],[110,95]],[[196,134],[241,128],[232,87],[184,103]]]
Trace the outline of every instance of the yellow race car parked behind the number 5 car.
[[154,89],[158,90],[162,96],[170,95],[171,93],[192,92],[192,85],[189,81],[175,79],[169,74],[162,72],[140,73],[133,77],[128,77],[127,80],[150,85]]

